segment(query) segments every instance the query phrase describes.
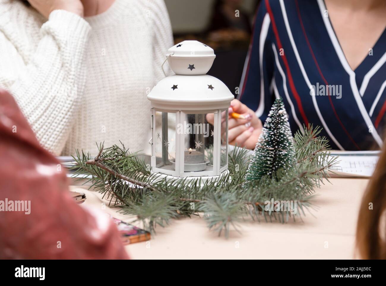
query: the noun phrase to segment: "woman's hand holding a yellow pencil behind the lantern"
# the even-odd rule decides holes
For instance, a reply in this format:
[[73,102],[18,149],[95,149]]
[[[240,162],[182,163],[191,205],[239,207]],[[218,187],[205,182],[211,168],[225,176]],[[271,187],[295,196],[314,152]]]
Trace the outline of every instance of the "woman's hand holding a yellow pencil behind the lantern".
[[[230,103],[229,114],[232,112],[239,113],[245,117],[245,119],[234,119],[229,116],[228,121],[228,141],[230,145],[237,145],[248,149],[254,149],[259,139],[262,123],[257,118],[256,113],[249,109],[245,104],[242,104],[237,99],[232,100]],[[225,135],[225,117],[222,114],[221,123],[221,136]],[[207,121],[213,124],[213,114],[207,114]]]

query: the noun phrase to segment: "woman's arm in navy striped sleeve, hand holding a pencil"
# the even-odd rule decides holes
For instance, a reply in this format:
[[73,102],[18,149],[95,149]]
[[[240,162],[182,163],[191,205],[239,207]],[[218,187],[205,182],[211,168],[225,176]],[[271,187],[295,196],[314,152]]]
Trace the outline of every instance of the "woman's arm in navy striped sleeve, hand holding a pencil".
[[[239,100],[234,99],[230,111],[246,119],[229,119],[229,144],[255,148],[262,124],[267,118],[274,96],[269,89],[273,80],[273,53],[267,35],[271,21],[264,1],[260,4],[254,23],[254,32],[240,83]],[[262,123],[263,121],[263,123]]]

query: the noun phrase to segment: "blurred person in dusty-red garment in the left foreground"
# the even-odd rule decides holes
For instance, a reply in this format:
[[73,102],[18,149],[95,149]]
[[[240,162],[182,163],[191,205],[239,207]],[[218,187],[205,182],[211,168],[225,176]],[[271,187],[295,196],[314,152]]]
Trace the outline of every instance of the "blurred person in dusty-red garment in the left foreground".
[[77,205],[66,172],[0,89],[0,259],[127,259],[102,212]]

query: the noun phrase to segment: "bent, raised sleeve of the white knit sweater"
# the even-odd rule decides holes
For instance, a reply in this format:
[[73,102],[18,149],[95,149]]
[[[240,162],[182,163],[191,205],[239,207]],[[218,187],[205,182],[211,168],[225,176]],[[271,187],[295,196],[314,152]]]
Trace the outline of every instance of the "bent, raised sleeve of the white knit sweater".
[[[27,30],[27,21],[25,25]],[[14,96],[41,145],[55,155],[64,147],[85,86],[84,57],[90,30],[80,16],[54,10],[42,25],[41,40],[27,61],[19,39],[12,35],[10,40],[0,31],[0,86]],[[10,80],[7,72],[13,63],[20,67],[14,69]]]

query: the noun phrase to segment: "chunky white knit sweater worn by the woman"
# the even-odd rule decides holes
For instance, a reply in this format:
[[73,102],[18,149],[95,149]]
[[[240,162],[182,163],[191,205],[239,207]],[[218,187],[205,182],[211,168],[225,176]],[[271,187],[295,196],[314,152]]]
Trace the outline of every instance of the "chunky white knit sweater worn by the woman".
[[96,142],[149,151],[151,88],[173,45],[163,0],[115,0],[82,19],[46,21],[19,0],[0,0],[0,87],[10,91],[41,144],[55,155]]

